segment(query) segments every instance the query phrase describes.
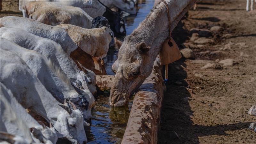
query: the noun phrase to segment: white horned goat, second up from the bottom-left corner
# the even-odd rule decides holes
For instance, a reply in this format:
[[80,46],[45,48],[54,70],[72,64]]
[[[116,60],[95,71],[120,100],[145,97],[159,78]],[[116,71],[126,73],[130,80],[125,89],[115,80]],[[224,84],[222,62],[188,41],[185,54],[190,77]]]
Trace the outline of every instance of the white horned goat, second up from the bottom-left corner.
[[[2,46],[2,44],[1,44]],[[87,142],[82,113],[59,103],[42,85],[26,63],[12,52],[0,49],[1,82],[12,91],[16,100],[24,107],[35,111],[58,132],[73,143]]]

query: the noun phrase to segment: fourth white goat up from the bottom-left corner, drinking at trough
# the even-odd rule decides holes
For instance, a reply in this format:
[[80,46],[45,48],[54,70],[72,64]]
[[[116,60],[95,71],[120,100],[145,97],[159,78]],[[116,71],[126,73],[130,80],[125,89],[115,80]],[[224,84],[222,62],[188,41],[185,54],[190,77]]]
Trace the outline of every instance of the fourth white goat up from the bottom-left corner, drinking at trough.
[[[92,94],[96,94],[96,76],[91,70],[87,70],[84,68],[84,71],[80,70],[76,63],[63,51],[60,44],[57,44],[56,42],[39,37],[36,35],[33,35],[31,33],[28,33],[20,28],[0,28],[1,33],[0,35],[3,38],[6,38],[13,43],[16,43],[20,45],[21,47],[24,47],[26,49],[34,50],[36,52],[39,52],[47,59],[50,59],[54,65],[58,68],[61,68],[63,72],[70,78],[71,82],[73,84],[76,84],[77,77],[84,76],[83,83],[88,86],[88,90],[83,89],[82,86],[78,86],[80,89],[82,89],[82,94],[85,96],[86,100],[88,101],[88,108],[84,111],[84,118],[89,119],[91,118],[91,108],[94,105],[94,97]],[[82,84],[78,84],[82,85]]]

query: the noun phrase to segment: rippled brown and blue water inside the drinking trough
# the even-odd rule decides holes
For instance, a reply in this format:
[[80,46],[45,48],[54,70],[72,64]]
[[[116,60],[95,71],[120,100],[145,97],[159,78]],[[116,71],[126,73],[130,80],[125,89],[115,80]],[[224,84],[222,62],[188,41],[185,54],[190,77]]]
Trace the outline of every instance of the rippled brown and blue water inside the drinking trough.
[[[139,10],[136,16],[124,18],[127,35],[130,35],[139,23],[145,19],[153,5],[154,1],[142,1],[141,4],[138,4]],[[117,51],[109,49],[108,55],[104,59],[107,75],[115,75],[111,67],[116,59]],[[92,108],[92,126],[86,130],[88,143],[121,143],[131,107],[132,99],[128,107],[111,108],[108,94],[98,96],[96,105]]]

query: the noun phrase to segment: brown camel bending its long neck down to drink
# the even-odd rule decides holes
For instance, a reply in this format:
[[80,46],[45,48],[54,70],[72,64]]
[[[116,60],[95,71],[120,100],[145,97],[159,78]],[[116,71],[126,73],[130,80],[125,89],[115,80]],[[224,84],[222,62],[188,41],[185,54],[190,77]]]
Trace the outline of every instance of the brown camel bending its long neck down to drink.
[[[195,0],[166,1],[170,11],[171,31]],[[150,75],[161,45],[169,35],[168,19],[164,2],[159,2],[131,35],[124,38],[118,59],[112,65],[116,72],[109,103],[120,107],[128,104],[129,97]]]

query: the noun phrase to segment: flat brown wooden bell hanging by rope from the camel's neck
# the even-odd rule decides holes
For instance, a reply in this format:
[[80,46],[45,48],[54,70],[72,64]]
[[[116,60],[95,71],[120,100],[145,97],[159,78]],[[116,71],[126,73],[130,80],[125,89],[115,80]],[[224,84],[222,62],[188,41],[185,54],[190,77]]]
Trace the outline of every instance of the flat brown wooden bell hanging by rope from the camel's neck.
[[171,36],[171,20],[169,16],[169,7],[167,3],[163,0],[164,5],[167,9],[167,18],[168,18],[168,26],[169,26],[169,37],[162,44],[161,50],[159,52],[160,64],[165,65],[165,80],[168,79],[168,64],[172,63],[181,58],[181,53],[178,45],[175,43]]

